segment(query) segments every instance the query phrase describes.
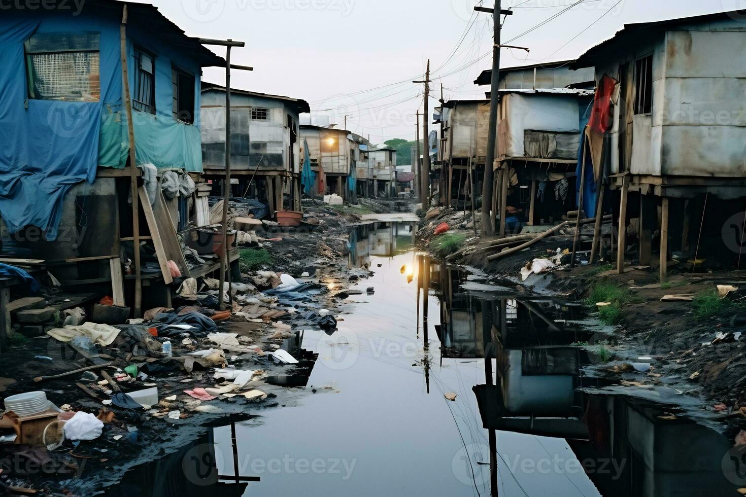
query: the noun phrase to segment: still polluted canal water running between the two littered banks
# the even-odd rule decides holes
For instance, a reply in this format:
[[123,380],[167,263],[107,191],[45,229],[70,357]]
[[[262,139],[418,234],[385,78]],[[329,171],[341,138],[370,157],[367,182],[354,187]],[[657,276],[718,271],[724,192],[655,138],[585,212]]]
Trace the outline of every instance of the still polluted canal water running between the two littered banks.
[[603,353],[592,344],[612,337],[582,305],[439,265],[415,249],[414,232],[396,222],[351,232],[349,267],[372,274],[348,288],[336,329],[307,327],[283,344],[300,362],[267,379],[289,390],[277,408],[210,428],[107,495],[165,486],[183,496],[735,495],[743,486],[746,458],[717,426],[660,402],[665,392],[620,395],[598,373]]

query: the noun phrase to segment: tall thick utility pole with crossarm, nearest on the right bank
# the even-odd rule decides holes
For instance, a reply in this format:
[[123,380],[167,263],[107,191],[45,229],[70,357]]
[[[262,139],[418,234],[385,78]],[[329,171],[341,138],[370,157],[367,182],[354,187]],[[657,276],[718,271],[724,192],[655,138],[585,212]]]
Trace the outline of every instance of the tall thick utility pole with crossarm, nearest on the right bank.
[[[484,180],[482,183],[482,236],[495,234],[495,213],[490,212],[492,196],[495,194],[495,175],[492,168],[495,163],[495,144],[498,135],[498,90],[500,87],[500,16],[501,14],[513,15],[511,10],[501,10],[501,0],[495,0],[495,9],[486,7],[474,7],[477,12],[492,13],[495,42],[492,44],[492,84],[490,86],[489,98],[489,135],[487,137],[487,155],[484,164]],[[505,213],[501,212],[501,216]],[[475,220],[476,221],[476,220]]]

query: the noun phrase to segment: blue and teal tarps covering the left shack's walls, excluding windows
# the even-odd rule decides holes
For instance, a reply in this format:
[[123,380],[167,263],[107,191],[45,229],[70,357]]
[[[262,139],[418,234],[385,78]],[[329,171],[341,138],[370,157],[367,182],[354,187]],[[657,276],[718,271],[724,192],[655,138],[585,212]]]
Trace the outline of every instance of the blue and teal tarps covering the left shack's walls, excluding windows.
[[[123,168],[128,157],[122,112],[119,15],[84,12],[55,15],[44,10],[3,11],[0,16],[0,215],[11,233],[27,226],[57,237],[65,194],[76,183],[93,183],[96,167]],[[98,34],[98,101],[28,98],[25,48],[32,35]],[[128,30],[128,64],[134,46],[156,54],[156,113],[134,112],[138,165],[201,171],[198,128],[199,64],[137,26]],[[172,65],[195,75],[195,124],[172,116]],[[129,73],[134,88],[136,71]]]

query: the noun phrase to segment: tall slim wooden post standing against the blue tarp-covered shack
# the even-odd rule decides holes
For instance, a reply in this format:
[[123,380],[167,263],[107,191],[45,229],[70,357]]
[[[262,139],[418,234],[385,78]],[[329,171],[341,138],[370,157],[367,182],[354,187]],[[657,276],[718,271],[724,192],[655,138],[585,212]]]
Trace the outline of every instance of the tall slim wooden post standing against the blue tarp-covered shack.
[[122,90],[124,91],[127,134],[130,148],[130,191],[132,192],[132,246],[135,263],[134,317],[142,316],[142,269],[140,268],[140,203],[137,195],[137,157],[135,156],[135,129],[132,122],[130,80],[127,72],[127,4],[122,6],[122,25],[119,26],[119,51],[122,57]]

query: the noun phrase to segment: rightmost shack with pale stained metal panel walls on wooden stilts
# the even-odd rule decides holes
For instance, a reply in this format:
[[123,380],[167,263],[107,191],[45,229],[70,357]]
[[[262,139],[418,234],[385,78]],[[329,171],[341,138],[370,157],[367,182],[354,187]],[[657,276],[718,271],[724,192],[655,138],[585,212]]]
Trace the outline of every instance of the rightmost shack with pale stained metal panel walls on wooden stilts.
[[627,232],[637,233],[644,265],[659,238],[662,279],[671,250],[704,255],[711,267],[735,263],[744,203],[733,200],[746,186],[746,60],[733,54],[745,49],[742,13],[712,13],[625,25],[573,64],[595,66],[604,97],[598,127],[606,161],[594,167],[621,197],[619,270]]

